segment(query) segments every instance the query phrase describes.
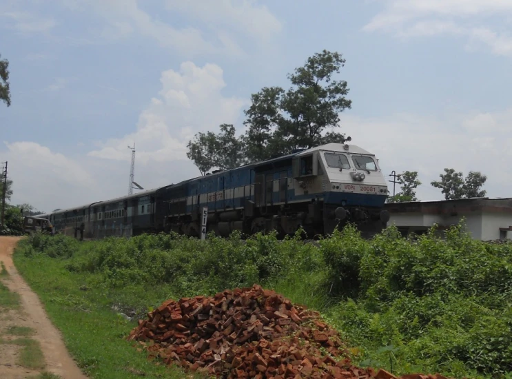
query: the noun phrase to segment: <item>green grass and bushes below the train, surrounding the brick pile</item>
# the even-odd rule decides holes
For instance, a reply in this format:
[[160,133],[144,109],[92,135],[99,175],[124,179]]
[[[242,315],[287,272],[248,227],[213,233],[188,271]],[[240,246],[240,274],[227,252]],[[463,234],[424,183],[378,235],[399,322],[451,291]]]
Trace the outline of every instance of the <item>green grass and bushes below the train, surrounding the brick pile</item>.
[[36,236],[19,245],[14,261],[71,354],[97,378],[165,372],[123,340],[150,307],[254,283],[321,311],[359,365],[512,378],[512,244],[472,240],[461,226],[445,237],[412,241],[393,227],[373,240],[347,228],[318,244]]

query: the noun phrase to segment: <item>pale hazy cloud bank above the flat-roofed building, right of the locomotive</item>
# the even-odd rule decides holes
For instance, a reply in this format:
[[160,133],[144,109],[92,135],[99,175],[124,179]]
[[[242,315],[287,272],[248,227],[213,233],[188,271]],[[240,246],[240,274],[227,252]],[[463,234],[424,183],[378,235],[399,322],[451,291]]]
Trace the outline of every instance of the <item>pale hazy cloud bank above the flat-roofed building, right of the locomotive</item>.
[[[422,117],[396,114],[386,119],[341,116],[342,128],[352,143],[374,152],[388,176],[391,171],[418,171],[421,200],[440,200],[439,189],[430,185],[445,167],[464,176],[469,171],[487,175],[487,196],[506,197],[512,193],[512,156],[509,130],[512,109],[497,113]],[[389,178],[391,180],[391,178]],[[393,184],[388,185],[393,191]],[[396,188],[397,192],[399,187]]]

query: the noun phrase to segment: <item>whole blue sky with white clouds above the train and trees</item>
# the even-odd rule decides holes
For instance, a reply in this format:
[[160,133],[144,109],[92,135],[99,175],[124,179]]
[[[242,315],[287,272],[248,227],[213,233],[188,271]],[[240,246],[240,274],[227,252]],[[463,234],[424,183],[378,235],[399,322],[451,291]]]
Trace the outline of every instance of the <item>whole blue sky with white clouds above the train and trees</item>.
[[389,180],[417,171],[418,198],[441,200],[445,167],[480,171],[512,196],[511,26],[510,0],[3,0],[11,203],[124,196],[134,143],[145,189],[194,178],[194,134],[242,134],[251,94],[324,49],[346,59],[339,131]]

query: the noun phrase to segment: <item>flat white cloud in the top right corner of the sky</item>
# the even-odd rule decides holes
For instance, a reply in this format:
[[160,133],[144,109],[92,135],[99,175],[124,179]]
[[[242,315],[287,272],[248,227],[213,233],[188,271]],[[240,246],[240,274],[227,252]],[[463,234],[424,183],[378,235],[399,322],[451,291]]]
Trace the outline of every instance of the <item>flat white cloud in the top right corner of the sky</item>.
[[[487,45],[494,54],[512,56],[512,37],[485,26],[485,17],[502,17],[509,23],[509,0],[384,0],[385,9],[365,27],[368,32],[384,30],[397,37],[464,36],[467,48]],[[482,26],[482,23],[484,25]],[[495,25],[495,20],[487,25]]]

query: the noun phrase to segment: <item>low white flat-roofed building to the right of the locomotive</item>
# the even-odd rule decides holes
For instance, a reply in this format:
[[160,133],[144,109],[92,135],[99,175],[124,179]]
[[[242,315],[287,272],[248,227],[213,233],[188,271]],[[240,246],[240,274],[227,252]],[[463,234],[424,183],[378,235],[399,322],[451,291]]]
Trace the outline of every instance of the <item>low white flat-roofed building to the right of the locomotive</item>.
[[385,209],[390,214],[388,225],[396,225],[404,236],[423,234],[436,223],[442,231],[464,217],[475,239],[512,239],[512,198],[387,203]]

